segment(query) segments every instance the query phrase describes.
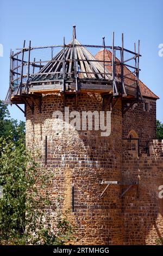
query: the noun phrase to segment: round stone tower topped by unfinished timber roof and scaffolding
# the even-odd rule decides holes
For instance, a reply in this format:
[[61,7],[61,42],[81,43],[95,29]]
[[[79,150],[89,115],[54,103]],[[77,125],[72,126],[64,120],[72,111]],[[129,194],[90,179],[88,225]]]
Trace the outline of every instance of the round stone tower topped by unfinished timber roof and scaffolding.
[[[18,107],[26,115],[26,145],[41,154],[47,186],[40,193],[52,202],[46,212],[54,229],[59,212],[73,224],[74,244],[122,245],[122,114],[140,97],[139,51],[124,49],[123,36],[122,47],[114,46],[114,36],[112,46],[104,38],[102,46],[82,45],[74,26],[69,44],[25,47],[24,41],[10,61],[7,103],[24,104],[24,111]],[[111,112],[107,136],[101,111],[104,125]]]

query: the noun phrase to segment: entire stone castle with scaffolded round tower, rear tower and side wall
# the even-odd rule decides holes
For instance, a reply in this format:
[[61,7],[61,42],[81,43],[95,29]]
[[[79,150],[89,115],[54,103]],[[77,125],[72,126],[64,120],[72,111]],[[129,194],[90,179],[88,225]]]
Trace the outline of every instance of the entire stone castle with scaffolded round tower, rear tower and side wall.
[[[127,50],[123,36],[121,47],[114,36],[112,46],[104,38],[102,46],[82,45],[75,26],[67,45],[24,42],[20,52],[11,52],[6,102],[24,104],[27,147],[40,150],[42,169],[47,178],[53,174],[47,214],[55,223],[60,198],[79,245],[151,245],[163,236],[159,97],[139,80],[139,58],[139,45]],[[72,111],[78,115],[81,127],[83,112],[111,113],[110,135],[95,129],[95,117],[92,129],[63,129],[65,109],[70,120]]]

